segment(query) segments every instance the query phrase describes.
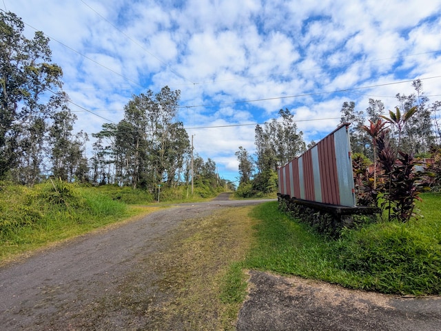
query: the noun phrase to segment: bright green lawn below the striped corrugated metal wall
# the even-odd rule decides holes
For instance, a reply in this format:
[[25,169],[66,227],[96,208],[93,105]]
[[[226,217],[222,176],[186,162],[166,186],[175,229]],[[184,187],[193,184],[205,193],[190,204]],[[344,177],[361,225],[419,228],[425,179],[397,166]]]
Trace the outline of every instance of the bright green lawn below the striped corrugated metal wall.
[[290,219],[276,202],[259,205],[252,214],[260,220],[256,244],[244,268],[384,293],[441,294],[441,195],[422,199],[422,219],[367,224],[338,240]]

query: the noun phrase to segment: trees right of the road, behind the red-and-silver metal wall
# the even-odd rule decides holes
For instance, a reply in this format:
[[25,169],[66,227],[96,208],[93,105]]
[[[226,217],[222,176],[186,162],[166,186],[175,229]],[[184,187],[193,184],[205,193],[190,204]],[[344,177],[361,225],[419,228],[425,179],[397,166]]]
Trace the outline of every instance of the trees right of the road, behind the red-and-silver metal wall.
[[[380,131],[385,134],[382,141],[387,141],[388,148],[395,151],[396,158],[393,159],[393,166],[395,167],[395,163],[398,168],[402,166],[404,161],[398,158],[400,153],[407,154],[413,160],[412,167],[418,165],[416,160],[430,159],[431,161],[425,166],[427,170],[435,174],[432,184],[438,187],[441,181],[441,133],[438,118],[441,102],[429,103],[429,98],[424,94],[422,82],[419,79],[413,81],[411,85],[415,92],[409,95],[396,94],[397,106],[393,111],[386,112],[384,103],[377,99],[369,99],[369,106],[365,111],[357,110],[354,101],[345,101],[342,104],[340,124],[351,123],[349,136],[355,160],[356,177],[360,171],[360,164],[363,172],[369,170],[369,167],[372,168],[372,165],[375,168],[377,164],[380,164],[378,153],[384,152],[384,149],[378,149],[378,138],[372,137],[373,133],[369,131],[371,126],[377,123],[377,125],[387,126]],[[236,152],[239,162],[238,194],[240,196],[252,197],[276,192],[277,168],[299,157],[307,148],[315,145],[314,141],[306,145],[302,137],[303,133],[298,132],[294,114],[291,114],[288,109],[280,110],[278,115],[278,119],[271,119],[264,126],[256,126],[254,139],[256,154],[250,154],[242,146]],[[380,178],[371,178],[374,175],[375,172],[371,172],[370,175],[366,174],[365,181],[376,183]],[[409,176],[411,175],[413,176],[409,172]],[[358,176],[355,180],[356,186],[360,188],[360,177]],[[366,188],[366,186],[363,187]],[[360,192],[360,202],[367,203],[365,198],[366,194]],[[372,199],[376,201],[376,198]]]

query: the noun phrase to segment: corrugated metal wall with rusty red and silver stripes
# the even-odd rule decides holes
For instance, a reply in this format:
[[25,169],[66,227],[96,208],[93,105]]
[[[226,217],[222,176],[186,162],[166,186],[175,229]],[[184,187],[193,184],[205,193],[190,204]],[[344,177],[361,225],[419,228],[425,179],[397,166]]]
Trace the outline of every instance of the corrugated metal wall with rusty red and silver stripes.
[[279,192],[298,199],[354,206],[348,126],[339,126],[316,146],[279,168]]

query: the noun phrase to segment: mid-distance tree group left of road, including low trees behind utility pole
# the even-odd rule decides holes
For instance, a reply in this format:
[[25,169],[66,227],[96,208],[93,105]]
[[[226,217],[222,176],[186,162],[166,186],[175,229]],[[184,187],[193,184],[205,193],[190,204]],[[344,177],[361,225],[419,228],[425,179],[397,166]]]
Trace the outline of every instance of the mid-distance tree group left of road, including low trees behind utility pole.
[[149,90],[134,96],[124,108],[123,120],[105,123],[92,134],[96,138],[90,163],[94,183],[172,187],[189,183],[193,170],[196,181],[225,185],[212,159],[204,161],[192,154],[187,131],[176,119],[180,94],[165,86],[156,94]]

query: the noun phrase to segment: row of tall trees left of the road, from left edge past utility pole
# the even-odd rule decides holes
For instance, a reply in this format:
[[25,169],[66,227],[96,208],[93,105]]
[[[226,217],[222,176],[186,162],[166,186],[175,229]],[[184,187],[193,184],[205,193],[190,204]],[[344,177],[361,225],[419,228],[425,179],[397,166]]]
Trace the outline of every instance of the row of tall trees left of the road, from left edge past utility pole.
[[63,92],[63,70],[52,63],[49,39],[24,36],[24,23],[0,12],[0,179],[34,185],[48,176],[64,181],[156,185],[196,181],[232,185],[219,179],[216,163],[194,154],[177,119],[181,91],[167,86],[132,96],[119,123],[105,123],[90,137],[74,133],[75,114]]

